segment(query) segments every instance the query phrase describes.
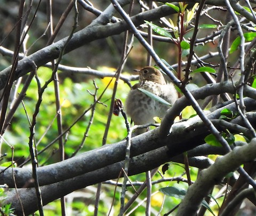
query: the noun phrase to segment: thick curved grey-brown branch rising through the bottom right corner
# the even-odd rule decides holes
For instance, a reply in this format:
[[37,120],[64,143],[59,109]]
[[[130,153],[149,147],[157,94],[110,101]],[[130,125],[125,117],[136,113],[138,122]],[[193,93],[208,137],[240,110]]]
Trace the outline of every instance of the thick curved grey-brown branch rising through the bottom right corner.
[[196,215],[203,198],[211,188],[218,184],[229,172],[235,171],[241,164],[256,157],[256,139],[248,145],[237,147],[225,156],[219,157],[208,169],[203,170],[196,182],[189,187],[187,195],[181,202],[177,215]]

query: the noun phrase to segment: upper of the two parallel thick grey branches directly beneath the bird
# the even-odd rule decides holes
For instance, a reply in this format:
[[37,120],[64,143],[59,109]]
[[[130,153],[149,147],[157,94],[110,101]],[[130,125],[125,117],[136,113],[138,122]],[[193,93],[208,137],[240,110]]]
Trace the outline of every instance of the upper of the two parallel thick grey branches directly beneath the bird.
[[[221,84],[212,84],[209,86],[212,86],[212,88],[214,89],[214,86],[220,87],[220,85]],[[248,87],[248,89],[245,88],[245,92],[249,89],[253,90],[251,87]],[[195,95],[201,98],[205,98],[211,95],[211,93],[212,92],[210,90],[202,91],[201,89],[199,89],[195,91]],[[255,97],[255,94],[252,94],[252,96]],[[255,110],[256,100],[245,98],[244,101],[247,111]],[[174,108],[174,112],[176,112],[176,114],[179,114],[181,110],[176,110],[175,107],[178,106],[182,109],[182,107],[187,106],[187,103],[187,99],[185,99],[185,97],[182,97],[177,100],[177,102],[173,105],[172,109]],[[215,111],[214,109],[212,109],[211,113],[209,113],[207,117],[209,119],[218,119],[220,116],[220,111],[223,108],[228,108],[230,110],[233,110],[234,112],[237,110],[236,104],[233,102],[229,103],[226,106],[222,105]],[[169,112],[171,112],[172,109],[170,109]],[[236,119],[234,119],[234,121],[235,120]],[[207,131],[207,128],[202,123],[201,119],[198,116],[195,116],[188,119],[187,121],[175,123],[172,126],[172,132],[165,140],[160,139],[161,137],[159,137],[159,129],[149,131],[148,133],[134,137],[132,139],[131,156],[133,157],[141,155],[162,146],[169,146],[170,149],[175,149],[170,150],[170,156],[175,156],[181,154],[183,151],[187,151],[189,149],[193,149],[198,145],[202,145],[204,142],[203,139],[207,134],[209,134],[209,131]],[[190,142],[190,144],[187,145],[187,142]],[[76,177],[77,175],[91,172],[107,165],[120,162],[124,159],[124,157],[125,141],[121,141],[115,144],[87,151],[86,153],[83,153],[74,158],[67,159],[63,162],[38,167],[37,172],[39,185],[48,185],[57,181],[70,179]],[[166,161],[164,161],[163,163],[165,162]],[[63,171],[63,167],[65,167],[65,172]],[[16,168],[15,172],[15,179],[17,180],[18,187],[23,187],[31,177],[31,170]],[[12,173],[10,170],[6,170],[5,172],[0,174],[0,183],[7,183],[9,187],[13,186]]]

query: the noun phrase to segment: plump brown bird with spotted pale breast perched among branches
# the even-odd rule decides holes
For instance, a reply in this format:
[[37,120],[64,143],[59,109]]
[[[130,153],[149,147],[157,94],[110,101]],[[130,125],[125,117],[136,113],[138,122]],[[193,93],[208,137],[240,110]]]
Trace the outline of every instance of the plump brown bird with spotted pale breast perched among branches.
[[[135,70],[138,71],[138,70]],[[178,94],[172,83],[166,84],[161,71],[154,67],[139,70],[139,83],[135,84],[127,95],[125,110],[135,125],[154,123],[154,117],[162,118],[170,106],[148,97],[138,88],[145,89],[163,98],[171,105],[177,100]],[[145,132],[138,130],[137,134]]]

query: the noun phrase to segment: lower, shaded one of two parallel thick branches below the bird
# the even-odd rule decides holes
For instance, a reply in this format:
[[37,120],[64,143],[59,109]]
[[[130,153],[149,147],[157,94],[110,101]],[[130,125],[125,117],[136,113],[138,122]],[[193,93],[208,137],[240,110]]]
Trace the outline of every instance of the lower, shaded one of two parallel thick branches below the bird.
[[[225,152],[221,147],[211,147],[209,145],[202,145],[197,147],[196,151],[188,151],[188,156],[191,157],[194,154],[197,154],[197,151],[200,154],[222,154]],[[169,153],[170,151],[168,151],[166,147],[162,147],[149,153],[131,158],[129,169],[130,175],[151,170],[154,167],[161,165],[165,161],[183,161],[183,155],[171,158]],[[197,167],[199,165],[200,169],[205,169],[209,167],[212,163],[207,160],[205,161],[205,159],[202,157],[192,157],[189,158],[189,164],[191,166]],[[61,196],[65,196],[77,189],[81,189],[89,185],[94,185],[95,183],[99,183],[109,179],[117,178],[123,166],[124,161],[103,167],[99,170],[95,170],[83,175],[79,175],[75,178],[67,179],[65,181],[60,181],[47,186],[42,186],[41,191],[43,196],[43,204],[46,205],[47,203],[52,202]],[[97,178],[95,178],[95,176],[97,176]],[[13,193],[13,190],[10,190],[9,193],[7,193],[7,195],[8,198],[5,199],[4,202],[12,202],[12,207],[15,207],[15,213],[19,215],[21,207],[19,205],[17,195]],[[27,214],[37,210],[35,202],[36,194],[34,192],[34,188],[21,188],[19,189],[19,195],[22,200],[25,212]]]

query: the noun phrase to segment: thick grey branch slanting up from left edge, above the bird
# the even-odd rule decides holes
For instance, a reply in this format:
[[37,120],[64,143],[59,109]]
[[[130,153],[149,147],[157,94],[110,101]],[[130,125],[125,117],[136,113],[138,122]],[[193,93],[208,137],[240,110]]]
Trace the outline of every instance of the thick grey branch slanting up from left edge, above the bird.
[[[157,9],[152,9],[150,11],[142,12],[131,17],[134,25],[139,26],[144,23],[144,20],[153,21],[166,15],[170,15],[175,11],[167,5],[158,7]],[[106,38],[113,35],[118,35],[128,30],[129,26],[124,20],[109,24],[109,25],[99,25],[97,23],[91,23],[91,25],[85,27],[84,29],[78,31],[70,39],[69,43],[65,48],[65,53],[76,50],[78,47],[81,47],[85,44],[88,44],[97,39]],[[43,49],[29,55],[26,58],[23,58],[18,62],[17,69],[15,71],[15,79],[29,73],[33,69],[35,64],[37,67],[45,65],[47,62],[50,62],[59,57],[60,51],[65,45],[68,37],[61,39],[60,41],[46,46]],[[0,89],[3,89],[8,75],[10,74],[11,66],[2,70],[0,72]]]

